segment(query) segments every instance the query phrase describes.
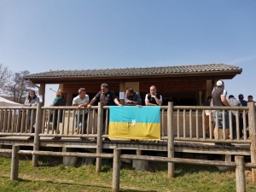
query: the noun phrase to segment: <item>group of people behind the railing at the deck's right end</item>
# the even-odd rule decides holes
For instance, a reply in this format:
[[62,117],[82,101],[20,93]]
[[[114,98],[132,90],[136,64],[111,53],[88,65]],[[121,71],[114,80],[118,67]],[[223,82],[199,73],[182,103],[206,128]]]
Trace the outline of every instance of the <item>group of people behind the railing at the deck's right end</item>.
[[[253,96],[248,96],[247,101],[244,100],[244,96],[240,94],[238,96],[239,100],[236,100],[235,96],[230,95],[227,98],[227,90],[224,89],[224,82],[222,80],[218,80],[217,87],[212,91],[212,96],[207,97],[207,102],[204,103],[205,106],[247,106],[247,102],[253,102]],[[255,102],[254,102],[255,103]],[[255,104],[256,105],[256,104]],[[218,111],[218,116],[216,117],[216,113],[212,112],[213,123],[218,125],[218,128],[223,128],[223,112],[221,110]],[[229,113],[227,111],[224,112],[225,119],[225,135],[227,137],[230,136],[230,120]],[[233,137],[236,138],[236,111],[232,111],[232,125],[233,125]],[[243,133],[243,116],[242,113],[239,113],[239,135],[241,138],[248,137],[248,131]],[[214,127],[214,126],[213,126]],[[248,114],[246,113],[246,127],[248,127]],[[214,129],[213,135],[217,137],[217,129]],[[218,144],[218,143],[217,143]],[[222,144],[223,145],[223,144]],[[226,144],[229,145],[229,144]]]

